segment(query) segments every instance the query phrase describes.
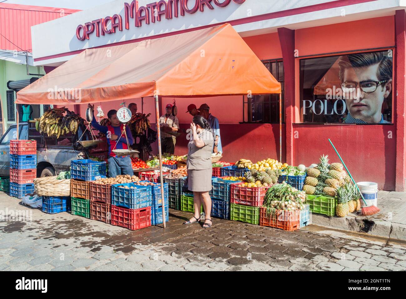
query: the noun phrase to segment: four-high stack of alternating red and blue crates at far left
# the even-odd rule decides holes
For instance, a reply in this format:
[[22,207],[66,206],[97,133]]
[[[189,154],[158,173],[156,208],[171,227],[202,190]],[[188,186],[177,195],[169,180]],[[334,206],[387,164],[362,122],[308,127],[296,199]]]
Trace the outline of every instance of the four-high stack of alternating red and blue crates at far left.
[[34,192],[37,177],[37,141],[10,140],[10,195],[22,199]]

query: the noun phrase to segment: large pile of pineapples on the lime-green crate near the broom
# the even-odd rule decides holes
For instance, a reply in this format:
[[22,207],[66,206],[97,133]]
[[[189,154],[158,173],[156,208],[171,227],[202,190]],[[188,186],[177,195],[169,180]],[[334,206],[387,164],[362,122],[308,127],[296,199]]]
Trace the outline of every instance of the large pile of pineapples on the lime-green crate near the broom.
[[350,182],[350,176],[343,170],[343,164],[328,164],[328,156],[322,155],[320,163],[307,170],[303,191],[306,194],[336,196],[337,188]]

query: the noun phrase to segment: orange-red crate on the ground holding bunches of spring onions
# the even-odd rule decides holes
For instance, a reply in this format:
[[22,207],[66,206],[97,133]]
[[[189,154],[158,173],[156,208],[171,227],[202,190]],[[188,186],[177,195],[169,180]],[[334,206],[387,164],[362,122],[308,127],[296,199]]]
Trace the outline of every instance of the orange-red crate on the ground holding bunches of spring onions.
[[300,228],[300,210],[276,210],[276,214],[271,216],[271,214],[266,213],[266,207],[260,207],[259,225],[294,231]]

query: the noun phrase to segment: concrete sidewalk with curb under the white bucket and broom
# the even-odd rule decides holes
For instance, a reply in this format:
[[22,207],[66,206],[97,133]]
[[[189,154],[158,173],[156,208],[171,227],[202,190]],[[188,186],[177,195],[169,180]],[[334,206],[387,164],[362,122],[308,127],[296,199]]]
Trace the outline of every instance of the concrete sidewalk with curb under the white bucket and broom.
[[361,210],[343,218],[312,213],[311,223],[406,240],[406,192],[379,191],[378,207],[380,212],[371,216],[361,216]]

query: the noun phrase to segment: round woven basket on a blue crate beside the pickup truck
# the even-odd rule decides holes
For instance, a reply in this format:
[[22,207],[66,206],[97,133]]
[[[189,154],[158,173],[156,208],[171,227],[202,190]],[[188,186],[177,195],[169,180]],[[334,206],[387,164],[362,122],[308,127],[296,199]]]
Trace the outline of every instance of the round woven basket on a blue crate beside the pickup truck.
[[57,180],[55,177],[34,179],[34,188],[39,196],[70,196],[71,180]]

